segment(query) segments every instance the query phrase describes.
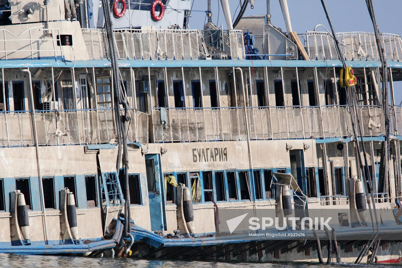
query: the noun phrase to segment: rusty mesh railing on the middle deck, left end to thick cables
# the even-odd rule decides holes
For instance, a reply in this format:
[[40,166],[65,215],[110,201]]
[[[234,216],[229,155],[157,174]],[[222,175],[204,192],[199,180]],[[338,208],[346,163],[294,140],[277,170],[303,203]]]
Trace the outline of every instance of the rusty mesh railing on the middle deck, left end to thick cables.
[[[148,115],[129,110],[127,139],[148,144]],[[113,110],[36,111],[39,145],[100,144],[116,137]],[[0,146],[34,145],[29,111],[0,113]]]

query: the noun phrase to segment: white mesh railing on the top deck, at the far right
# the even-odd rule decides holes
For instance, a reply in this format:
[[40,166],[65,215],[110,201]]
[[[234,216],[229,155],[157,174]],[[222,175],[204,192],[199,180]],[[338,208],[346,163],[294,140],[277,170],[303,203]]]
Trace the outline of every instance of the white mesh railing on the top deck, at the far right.
[[[381,33],[380,35],[387,60],[399,61],[402,59],[401,37],[392,33]],[[304,40],[310,60],[339,59],[331,33],[308,31],[299,35],[299,38]],[[340,42],[345,60],[379,60],[374,33],[336,33],[336,39]]]

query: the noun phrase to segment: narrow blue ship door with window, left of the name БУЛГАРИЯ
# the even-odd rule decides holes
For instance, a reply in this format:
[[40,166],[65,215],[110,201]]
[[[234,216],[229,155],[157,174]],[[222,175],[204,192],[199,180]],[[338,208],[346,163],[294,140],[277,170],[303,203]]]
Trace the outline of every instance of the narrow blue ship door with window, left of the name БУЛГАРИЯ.
[[148,198],[150,206],[151,230],[163,231],[165,229],[165,214],[161,190],[160,156],[145,155],[147,172]]

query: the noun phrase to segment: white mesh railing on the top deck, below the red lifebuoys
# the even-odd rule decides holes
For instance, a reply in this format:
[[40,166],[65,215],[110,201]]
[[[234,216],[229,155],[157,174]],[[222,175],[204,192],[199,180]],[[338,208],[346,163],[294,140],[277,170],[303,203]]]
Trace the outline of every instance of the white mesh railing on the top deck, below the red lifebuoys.
[[[222,31],[219,42],[232,59],[244,59],[242,31]],[[205,58],[203,35],[199,30],[114,30],[120,60],[198,60]],[[90,59],[109,59],[109,47],[104,29],[82,29]],[[241,37],[241,38],[240,38]]]

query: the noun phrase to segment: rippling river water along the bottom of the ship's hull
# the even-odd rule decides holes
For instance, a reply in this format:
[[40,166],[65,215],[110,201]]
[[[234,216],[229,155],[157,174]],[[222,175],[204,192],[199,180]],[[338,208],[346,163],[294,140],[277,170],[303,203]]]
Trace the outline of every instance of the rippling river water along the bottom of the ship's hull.
[[[258,268],[279,268],[279,267],[322,267],[325,264],[318,263],[261,263],[261,262],[199,262],[183,260],[141,260],[123,258],[84,258],[84,257],[60,257],[60,256],[23,256],[13,254],[0,254],[0,267],[113,267],[113,268],[167,268],[167,267],[187,267],[187,268],[238,268],[238,267],[258,267]],[[402,267],[397,264],[331,264],[331,268],[338,267]]]

